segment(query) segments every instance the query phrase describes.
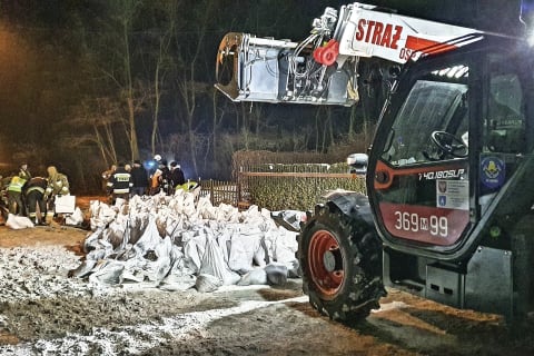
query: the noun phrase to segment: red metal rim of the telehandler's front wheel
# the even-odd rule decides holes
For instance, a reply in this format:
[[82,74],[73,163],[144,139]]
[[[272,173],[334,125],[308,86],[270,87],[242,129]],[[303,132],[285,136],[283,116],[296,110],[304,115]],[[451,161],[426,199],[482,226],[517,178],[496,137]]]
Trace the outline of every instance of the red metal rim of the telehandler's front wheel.
[[309,241],[308,270],[314,285],[325,299],[332,299],[343,285],[343,268],[329,270],[325,265],[325,254],[339,256],[339,243],[327,230],[316,231]]

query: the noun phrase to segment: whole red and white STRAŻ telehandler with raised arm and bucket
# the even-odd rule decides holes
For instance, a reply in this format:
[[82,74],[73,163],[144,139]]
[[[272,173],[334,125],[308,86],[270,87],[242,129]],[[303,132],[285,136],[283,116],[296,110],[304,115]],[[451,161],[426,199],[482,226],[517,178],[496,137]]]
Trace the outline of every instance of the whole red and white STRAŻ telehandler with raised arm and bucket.
[[362,61],[395,69],[367,195],[332,196],[301,226],[317,310],[354,323],[395,287],[508,320],[532,314],[533,55],[523,39],[357,2],[327,8],[300,42],[224,38],[216,87],[235,101],[350,106]]

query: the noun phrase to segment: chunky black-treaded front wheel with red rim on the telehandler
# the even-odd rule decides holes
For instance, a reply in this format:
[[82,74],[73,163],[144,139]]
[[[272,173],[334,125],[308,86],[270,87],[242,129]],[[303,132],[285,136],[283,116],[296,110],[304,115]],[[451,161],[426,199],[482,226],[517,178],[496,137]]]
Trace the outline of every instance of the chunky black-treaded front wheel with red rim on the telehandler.
[[367,222],[335,205],[317,206],[298,239],[303,289],[315,309],[355,324],[379,307],[382,244]]

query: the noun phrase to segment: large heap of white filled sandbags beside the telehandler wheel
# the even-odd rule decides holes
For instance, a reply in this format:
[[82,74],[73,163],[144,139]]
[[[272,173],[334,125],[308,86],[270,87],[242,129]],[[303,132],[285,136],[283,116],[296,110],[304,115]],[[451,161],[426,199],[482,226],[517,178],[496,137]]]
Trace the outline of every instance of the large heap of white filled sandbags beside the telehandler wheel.
[[196,200],[180,189],[115,206],[91,201],[90,225],[86,259],[71,273],[90,281],[211,291],[298,277],[297,233],[257,206],[214,207],[209,197]]

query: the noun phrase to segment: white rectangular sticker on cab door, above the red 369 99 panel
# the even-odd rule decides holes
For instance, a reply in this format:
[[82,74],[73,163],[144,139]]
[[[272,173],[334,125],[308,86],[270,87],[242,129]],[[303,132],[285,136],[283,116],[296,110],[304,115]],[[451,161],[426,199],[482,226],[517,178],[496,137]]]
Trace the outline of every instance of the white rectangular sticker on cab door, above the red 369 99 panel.
[[469,181],[436,179],[436,202],[438,208],[469,209]]

